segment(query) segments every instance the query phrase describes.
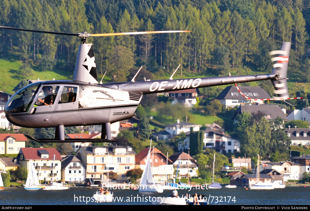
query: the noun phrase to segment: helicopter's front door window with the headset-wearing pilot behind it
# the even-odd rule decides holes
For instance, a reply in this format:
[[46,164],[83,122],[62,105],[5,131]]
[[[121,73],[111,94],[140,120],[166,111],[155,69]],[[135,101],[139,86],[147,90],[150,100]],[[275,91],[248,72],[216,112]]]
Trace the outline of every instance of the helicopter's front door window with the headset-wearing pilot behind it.
[[59,86],[43,85],[41,92],[38,94],[38,98],[34,106],[53,105],[55,103],[58,91]]

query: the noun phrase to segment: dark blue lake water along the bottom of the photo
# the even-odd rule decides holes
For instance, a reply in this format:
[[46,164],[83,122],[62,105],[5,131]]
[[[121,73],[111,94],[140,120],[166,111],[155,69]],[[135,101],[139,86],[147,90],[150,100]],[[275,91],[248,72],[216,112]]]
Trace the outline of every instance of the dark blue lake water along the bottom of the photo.
[[[0,204],[86,205],[86,200],[91,200],[91,196],[98,189],[99,187],[71,187],[69,190],[62,191],[47,191],[43,189],[29,191],[21,187],[5,188],[4,190],[0,190]],[[118,200],[122,199],[123,202],[118,202],[116,199],[115,202],[102,202],[101,205],[107,203],[109,205],[151,205],[149,200],[152,200],[153,197],[168,196],[172,191],[164,190],[163,193],[139,193],[138,190],[117,189],[112,190],[112,192],[114,193],[114,197],[117,197]],[[223,187],[221,189],[208,190],[178,190],[178,193],[179,196],[185,195],[186,193],[190,195],[195,193],[205,195],[209,199],[210,205],[310,205],[310,186],[287,186],[274,190],[246,190],[244,187]],[[139,197],[138,202],[137,196]],[[155,200],[155,198],[153,199]],[[228,202],[228,200],[230,201]],[[91,201],[87,202],[87,205],[89,204],[100,205],[100,203]]]

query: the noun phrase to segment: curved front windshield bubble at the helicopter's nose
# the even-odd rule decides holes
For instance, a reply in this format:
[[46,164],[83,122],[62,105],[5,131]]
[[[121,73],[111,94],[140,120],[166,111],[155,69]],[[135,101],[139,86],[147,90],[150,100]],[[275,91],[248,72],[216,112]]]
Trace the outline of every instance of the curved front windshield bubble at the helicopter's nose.
[[41,84],[42,82],[29,84],[16,92],[7,102],[7,105],[5,106],[5,113],[11,114],[28,112]]

